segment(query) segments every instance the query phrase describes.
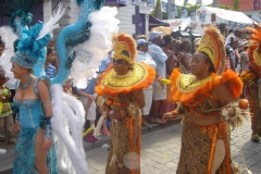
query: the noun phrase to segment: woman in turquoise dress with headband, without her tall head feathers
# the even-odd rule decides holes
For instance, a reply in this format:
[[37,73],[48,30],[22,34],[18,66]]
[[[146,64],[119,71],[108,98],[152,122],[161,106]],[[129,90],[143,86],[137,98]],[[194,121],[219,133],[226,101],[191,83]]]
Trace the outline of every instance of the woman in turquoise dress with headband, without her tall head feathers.
[[16,53],[12,59],[16,94],[13,102],[18,107],[15,129],[18,130],[14,152],[13,173],[58,173],[57,154],[52,141],[49,82],[45,76],[32,75],[30,55]]

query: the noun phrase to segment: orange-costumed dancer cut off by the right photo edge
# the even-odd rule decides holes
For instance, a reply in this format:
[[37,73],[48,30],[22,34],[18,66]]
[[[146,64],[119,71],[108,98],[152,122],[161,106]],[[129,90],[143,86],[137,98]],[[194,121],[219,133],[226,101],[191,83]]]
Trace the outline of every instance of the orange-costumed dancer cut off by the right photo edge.
[[250,46],[247,50],[250,66],[240,76],[246,87],[245,96],[249,100],[252,113],[251,139],[259,142],[261,136],[261,25],[253,24],[253,27],[247,27],[246,29],[251,33],[248,38]]

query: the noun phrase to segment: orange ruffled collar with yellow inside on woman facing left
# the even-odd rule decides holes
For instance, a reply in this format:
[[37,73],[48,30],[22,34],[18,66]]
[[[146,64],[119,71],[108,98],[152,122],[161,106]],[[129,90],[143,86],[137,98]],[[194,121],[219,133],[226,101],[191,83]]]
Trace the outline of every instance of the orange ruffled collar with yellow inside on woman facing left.
[[[213,73],[209,77],[204,78],[202,82],[199,80],[198,83],[190,84],[189,80],[195,80],[195,77],[190,77],[191,79],[187,77],[189,80],[187,79],[186,82],[186,76],[183,76],[184,74],[181,74],[177,69],[175,69],[171,75],[170,79],[172,80],[172,99],[175,102],[182,102],[188,107],[199,103],[201,101],[200,99],[202,99],[206,94],[210,92],[211,89],[213,89],[220,84],[225,84],[229,88],[235,99],[240,96],[243,90],[243,82],[233,71],[226,71],[222,74],[222,76]],[[187,84],[186,88],[184,87],[185,84]]]

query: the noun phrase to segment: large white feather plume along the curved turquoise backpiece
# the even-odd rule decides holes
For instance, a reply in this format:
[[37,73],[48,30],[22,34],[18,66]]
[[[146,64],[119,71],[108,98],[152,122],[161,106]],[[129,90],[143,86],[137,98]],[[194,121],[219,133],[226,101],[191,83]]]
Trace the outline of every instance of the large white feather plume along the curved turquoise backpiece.
[[112,49],[111,36],[119,30],[116,14],[116,8],[109,7],[90,14],[90,38],[75,48],[76,58],[71,69],[74,86],[86,88],[87,80],[97,75],[98,66],[107,59]]

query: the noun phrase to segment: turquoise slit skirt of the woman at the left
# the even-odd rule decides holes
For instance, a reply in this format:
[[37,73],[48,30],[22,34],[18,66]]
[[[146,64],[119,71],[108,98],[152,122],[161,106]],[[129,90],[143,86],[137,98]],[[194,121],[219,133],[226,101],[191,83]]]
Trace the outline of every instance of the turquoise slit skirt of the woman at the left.
[[[14,150],[13,174],[38,174],[35,169],[35,141],[38,130],[39,127],[21,127]],[[50,174],[58,174],[54,145],[47,154],[47,166]]]

